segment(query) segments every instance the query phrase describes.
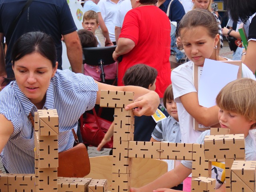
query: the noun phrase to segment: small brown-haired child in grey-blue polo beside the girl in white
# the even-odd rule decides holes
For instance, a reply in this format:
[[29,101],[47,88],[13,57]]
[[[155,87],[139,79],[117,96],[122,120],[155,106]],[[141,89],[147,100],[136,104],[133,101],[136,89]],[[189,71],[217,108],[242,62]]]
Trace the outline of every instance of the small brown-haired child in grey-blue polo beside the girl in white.
[[157,123],[154,131],[152,132],[152,138],[150,141],[160,142],[164,140],[173,143],[180,143],[180,125],[176,102],[174,102],[173,98],[172,84],[170,84],[164,92],[164,107],[170,116]]

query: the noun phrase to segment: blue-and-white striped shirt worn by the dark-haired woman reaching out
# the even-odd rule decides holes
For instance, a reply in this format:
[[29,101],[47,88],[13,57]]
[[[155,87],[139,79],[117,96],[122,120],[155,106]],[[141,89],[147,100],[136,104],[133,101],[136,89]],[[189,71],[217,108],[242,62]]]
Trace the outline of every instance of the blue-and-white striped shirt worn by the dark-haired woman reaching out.
[[[75,74],[70,70],[57,70],[46,91],[44,108],[56,109],[59,116],[58,150],[62,152],[73,146],[78,119],[94,107],[98,86],[93,78]],[[8,172],[13,174],[34,173],[34,130],[28,120],[36,106],[20,91],[13,81],[0,92],[0,114],[10,120],[14,132],[6,143],[1,156]]]

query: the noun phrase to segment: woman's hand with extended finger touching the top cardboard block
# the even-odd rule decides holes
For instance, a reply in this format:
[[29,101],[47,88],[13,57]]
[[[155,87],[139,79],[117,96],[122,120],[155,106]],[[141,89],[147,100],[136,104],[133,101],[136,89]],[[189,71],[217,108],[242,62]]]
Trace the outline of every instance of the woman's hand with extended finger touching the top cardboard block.
[[125,107],[126,110],[134,109],[135,116],[150,116],[156,112],[160,103],[159,96],[156,92],[150,91],[149,93],[137,98],[132,104]]

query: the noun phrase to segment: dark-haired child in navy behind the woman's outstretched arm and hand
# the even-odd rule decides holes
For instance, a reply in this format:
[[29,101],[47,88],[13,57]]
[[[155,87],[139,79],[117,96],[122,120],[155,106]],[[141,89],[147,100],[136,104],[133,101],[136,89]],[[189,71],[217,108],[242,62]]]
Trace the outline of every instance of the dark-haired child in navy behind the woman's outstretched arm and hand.
[[[123,78],[124,85],[133,85],[147,88],[154,91],[156,89],[156,76],[157,71],[145,64],[136,64],[128,70],[126,70]],[[159,105],[160,109],[166,116],[168,113],[163,110],[162,106]],[[151,116],[135,116],[135,126],[134,126],[134,141],[150,141],[151,133],[156,126],[156,122]],[[105,134],[102,142],[99,144],[97,150],[100,151],[101,148],[110,141],[113,136],[114,123],[111,124],[108,132]]]

